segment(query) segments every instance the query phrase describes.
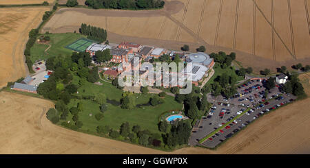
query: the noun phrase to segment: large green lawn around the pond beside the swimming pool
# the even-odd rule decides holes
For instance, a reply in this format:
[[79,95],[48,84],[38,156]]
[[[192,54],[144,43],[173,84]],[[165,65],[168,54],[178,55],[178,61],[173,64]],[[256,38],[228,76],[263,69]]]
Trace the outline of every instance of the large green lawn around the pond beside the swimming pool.
[[[85,92],[83,92],[83,90],[85,90]],[[79,88],[79,94],[81,95],[94,95],[96,93],[105,93],[107,99],[119,101],[123,91],[105,82],[102,86],[87,83],[85,86]],[[153,95],[134,94],[134,96],[136,97],[136,104],[147,104],[149,98]],[[174,100],[174,97],[170,96],[165,97],[165,104],[156,107],[136,107],[132,110],[122,109],[120,106],[107,103],[107,111],[104,112],[103,119],[97,121],[94,115],[100,112],[99,104],[91,100],[72,99],[68,107],[71,108],[72,106],[76,106],[79,101],[82,101],[84,106],[83,111],[79,112],[79,120],[83,122],[83,127],[81,129],[88,132],[96,132],[96,127],[98,125],[109,125],[111,128],[119,129],[121,124],[127,121],[131,126],[138,124],[143,129],[148,129],[154,133],[160,133],[157,126],[158,117],[168,110],[182,109],[182,104],[178,104],[178,102]],[[90,116],[90,114],[92,114],[92,116]],[[67,119],[70,119],[70,122],[74,123],[71,115]]]

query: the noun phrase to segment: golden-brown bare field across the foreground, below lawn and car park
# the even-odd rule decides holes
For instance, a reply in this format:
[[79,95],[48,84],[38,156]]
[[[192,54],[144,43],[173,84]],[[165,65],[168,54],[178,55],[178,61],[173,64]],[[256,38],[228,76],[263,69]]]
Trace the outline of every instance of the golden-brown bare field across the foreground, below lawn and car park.
[[[310,77],[302,77],[309,93]],[[5,135],[0,154],[167,154],[53,125],[45,117],[53,104],[44,99],[1,92],[0,100],[0,134]],[[310,154],[309,101],[258,119],[215,151],[187,147],[169,154]]]

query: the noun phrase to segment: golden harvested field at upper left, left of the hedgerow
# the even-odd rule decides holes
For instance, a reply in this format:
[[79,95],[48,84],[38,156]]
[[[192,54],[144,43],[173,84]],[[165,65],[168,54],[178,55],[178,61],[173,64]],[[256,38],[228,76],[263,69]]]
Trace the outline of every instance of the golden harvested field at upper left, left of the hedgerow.
[[48,8],[0,8],[0,88],[25,77],[23,51],[28,32],[41,23]]

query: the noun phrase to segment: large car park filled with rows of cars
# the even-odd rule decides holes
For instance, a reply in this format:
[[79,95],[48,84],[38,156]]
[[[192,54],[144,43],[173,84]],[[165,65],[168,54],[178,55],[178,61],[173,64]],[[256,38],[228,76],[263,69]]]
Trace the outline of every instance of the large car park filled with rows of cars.
[[[283,94],[275,87],[269,91],[265,98],[265,88],[261,80],[251,80],[247,84],[238,87],[238,94],[230,99],[222,96],[216,99],[209,96],[209,101],[214,103],[207,116],[203,117],[193,130],[189,139],[189,145],[203,145],[205,147],[216,147],[216,145],[229,139],[233,134],[240,131],[247,124],[251,123],[261,115],[270,110],[274,110],[290,102],[290,99],[296,99],[293,95]],[[279,97],[278,99],[275,99]],[[249,108],[244,115],[232,121],[225,128],[211,136],[203,143],[199,143],[200,139],[209,135],[214,130],[220,128],[234,117],[238,116]]]

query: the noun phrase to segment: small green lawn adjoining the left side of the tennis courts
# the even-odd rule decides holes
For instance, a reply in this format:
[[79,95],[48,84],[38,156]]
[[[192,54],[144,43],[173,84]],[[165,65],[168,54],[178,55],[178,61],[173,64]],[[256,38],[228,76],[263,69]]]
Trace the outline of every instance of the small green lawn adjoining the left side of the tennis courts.
[[44,52],[48,48],[48,45],[41,45],[35,43],[31,48],[31,60],[46,60],[52,56],[71,56],[72,50],[66,49],[65,46],[70,45],[79,38],[85,38],[81,34],[66,33],[66,34],[49,34],[50,36],[50,49],[47,53]]

